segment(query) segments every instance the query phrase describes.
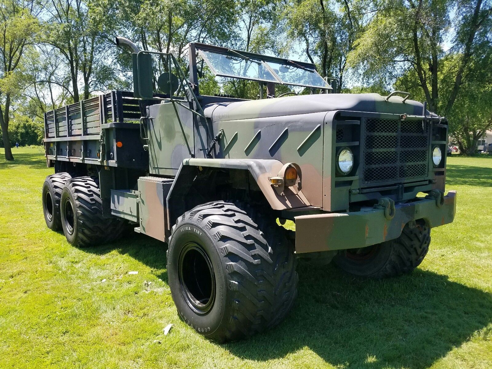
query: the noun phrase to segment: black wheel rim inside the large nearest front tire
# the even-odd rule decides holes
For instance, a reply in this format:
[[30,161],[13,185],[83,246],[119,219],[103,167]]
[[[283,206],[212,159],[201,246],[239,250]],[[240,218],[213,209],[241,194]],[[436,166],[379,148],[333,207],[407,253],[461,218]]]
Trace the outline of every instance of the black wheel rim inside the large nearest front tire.
[[203,247],[194,242],[186,244],[178,268],[184,300],[196,313],[207,313],[215,301],[215,275]]

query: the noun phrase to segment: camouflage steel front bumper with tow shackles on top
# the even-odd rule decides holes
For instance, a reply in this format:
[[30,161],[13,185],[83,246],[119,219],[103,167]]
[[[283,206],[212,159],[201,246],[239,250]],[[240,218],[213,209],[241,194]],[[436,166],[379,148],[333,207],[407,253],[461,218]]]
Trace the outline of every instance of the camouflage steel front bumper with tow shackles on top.
[[[442,199],[442,198],[441,198]],[[425,198],[395,205],[394,216],[381,208],[349,213],[300,215],[296,220],[296,253],[360,248],[398,238],[412,220],[430,227],[451,223],[456,213],[456,191],[444,201]]]

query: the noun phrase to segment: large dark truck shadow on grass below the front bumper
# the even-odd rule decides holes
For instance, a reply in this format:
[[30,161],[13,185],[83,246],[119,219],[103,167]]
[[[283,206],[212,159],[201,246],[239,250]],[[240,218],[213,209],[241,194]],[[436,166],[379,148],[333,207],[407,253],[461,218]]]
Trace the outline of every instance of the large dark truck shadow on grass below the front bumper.
[[224,348],[257,361],[307,347],[344,368],[427,368],[471,336],[492,334],[492,296],[444,275],[417,269],[371,281],[331,265],[298,270],[299,295],[285,321]]

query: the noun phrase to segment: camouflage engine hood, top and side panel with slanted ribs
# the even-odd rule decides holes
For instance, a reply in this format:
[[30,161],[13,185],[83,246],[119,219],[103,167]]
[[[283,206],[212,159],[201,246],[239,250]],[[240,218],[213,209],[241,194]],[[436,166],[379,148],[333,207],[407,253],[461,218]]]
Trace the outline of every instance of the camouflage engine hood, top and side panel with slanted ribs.
[[[303,194],[311,205],[326,211],[348,210],[350,181],[360,175],[338,178],[345,182],[335,183],[336,115],[348,111],[400,119],[402,114],[421,115],[423,109],[420,102],[403,102],[399,96],[386,101],[378,94],[304,95],[204,107],[213,135],[223,131],[215,158],[296,163],[303,172]],[[407,196],[430,189],[415,188]]]

